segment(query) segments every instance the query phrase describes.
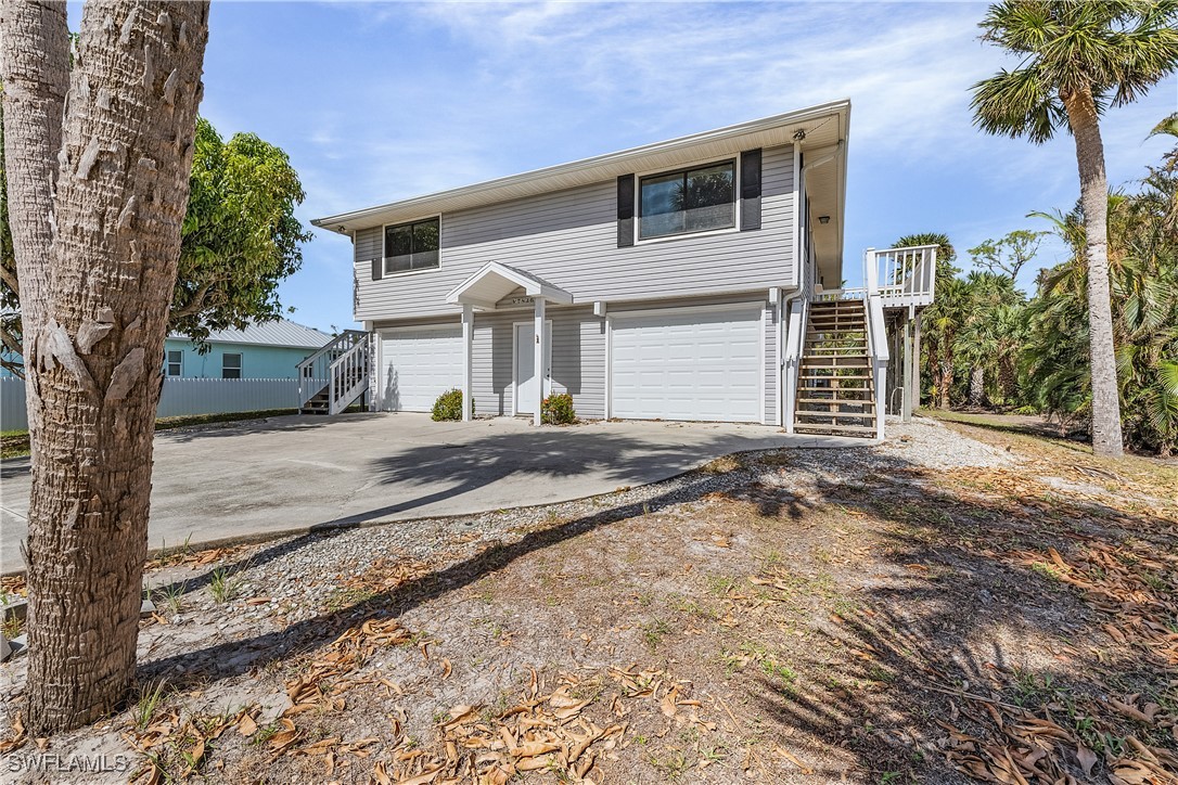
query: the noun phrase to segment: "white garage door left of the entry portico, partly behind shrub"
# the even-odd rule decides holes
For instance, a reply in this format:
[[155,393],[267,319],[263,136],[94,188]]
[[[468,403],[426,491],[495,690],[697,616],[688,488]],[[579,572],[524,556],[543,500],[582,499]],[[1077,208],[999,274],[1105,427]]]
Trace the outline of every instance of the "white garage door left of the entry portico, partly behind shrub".
[[380,408],[428,412],[437,397],[462,386],[462,327],[380,333]]

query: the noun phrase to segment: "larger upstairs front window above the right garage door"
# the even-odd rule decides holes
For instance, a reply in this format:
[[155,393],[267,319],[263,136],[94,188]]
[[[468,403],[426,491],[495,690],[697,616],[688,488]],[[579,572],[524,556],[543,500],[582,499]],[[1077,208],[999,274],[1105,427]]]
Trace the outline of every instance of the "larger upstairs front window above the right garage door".
[[736,162],[654,174],[640,181],[643,240],[736,226]]

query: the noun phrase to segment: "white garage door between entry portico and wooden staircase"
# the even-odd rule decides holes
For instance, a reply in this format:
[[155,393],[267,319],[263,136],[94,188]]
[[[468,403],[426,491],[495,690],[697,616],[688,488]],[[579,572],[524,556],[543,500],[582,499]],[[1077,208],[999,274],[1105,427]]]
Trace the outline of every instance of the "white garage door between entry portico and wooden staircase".
[[761,308],[613,318],[610,414],[761,419]]

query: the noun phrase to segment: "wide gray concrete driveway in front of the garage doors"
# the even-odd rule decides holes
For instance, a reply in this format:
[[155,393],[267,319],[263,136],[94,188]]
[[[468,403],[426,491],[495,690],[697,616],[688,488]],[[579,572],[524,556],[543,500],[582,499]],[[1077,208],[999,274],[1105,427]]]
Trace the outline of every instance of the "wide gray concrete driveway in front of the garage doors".
[[[726,453],[863,446],[777,427],[426,414],[277,417],[155,437],[152,548],[568,501],[673,477]],[[24,568],[28,459],[0,470],[0,572]]]

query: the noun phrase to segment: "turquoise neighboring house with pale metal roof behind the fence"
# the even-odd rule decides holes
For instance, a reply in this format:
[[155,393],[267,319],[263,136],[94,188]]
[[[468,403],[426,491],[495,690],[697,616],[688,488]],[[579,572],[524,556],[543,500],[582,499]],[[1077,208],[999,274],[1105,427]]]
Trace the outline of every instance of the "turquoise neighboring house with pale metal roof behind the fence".
[[299,362],[332,337],[289,319],[218,330],[201,354],[184,335],[164,342],[164,373],[185,379],[296,379]]

